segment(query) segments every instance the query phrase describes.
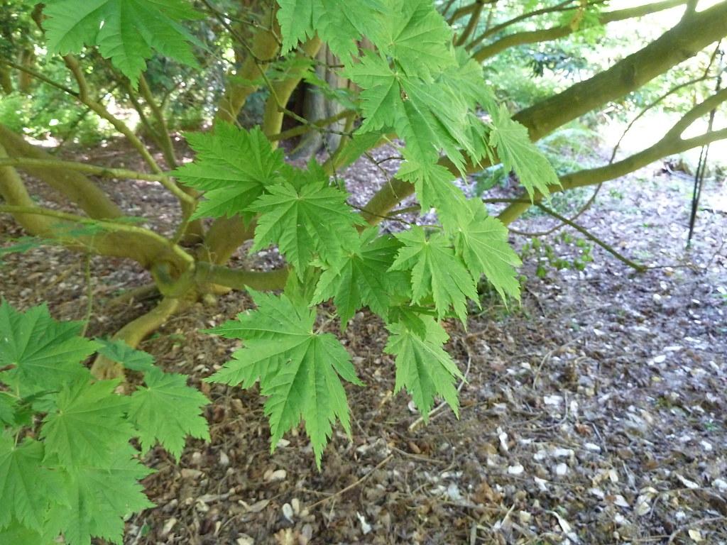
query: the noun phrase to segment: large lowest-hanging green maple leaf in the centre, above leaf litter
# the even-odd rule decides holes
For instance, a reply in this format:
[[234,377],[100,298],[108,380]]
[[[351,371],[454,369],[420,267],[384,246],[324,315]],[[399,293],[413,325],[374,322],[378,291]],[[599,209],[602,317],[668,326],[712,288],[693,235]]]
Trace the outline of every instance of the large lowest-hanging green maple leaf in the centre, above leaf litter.
[[252,293],[257,310],[238,316],[211,332],[244,339],[245,347],[234,359],[207,379],[250,387],[260,380],[268,397],[265,414],[270,419],[270,447],[289,429],[305,421],[316,464],[338,419],[350,434],[344,379],[361,385],[350,355],[329,333],[316,333],[316,312],[294,304],[286,295]]

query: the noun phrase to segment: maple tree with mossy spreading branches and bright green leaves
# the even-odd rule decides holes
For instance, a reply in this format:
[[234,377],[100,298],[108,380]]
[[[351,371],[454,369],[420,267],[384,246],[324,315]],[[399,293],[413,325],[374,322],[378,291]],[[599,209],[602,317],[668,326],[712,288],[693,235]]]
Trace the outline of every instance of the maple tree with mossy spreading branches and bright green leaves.
[[[723,39],[727,1],[702,11],[688,0],[614,11],[598,0],[530,1],[502,21],[495,19],[496,4],[513,13],[522,3],[450,0],[435,7],[431,0],[278,0],[270,7],[253,0],[50,0],[34,8],[12,3],[4,15],[32,20],[36,28],[24,27],[24,41],[38,40],[52,56],[31,62],[2,57],[1,75],[9,81],[3,87],[10,89],[19,75],[32,76],[38,85],[72,97],[80,110],[111,124],[146,169],[60,161],[0,126],[5,201],[0,211],[12,214],[31,235],[69,251],[124,257],[150,270],[160,302],[114,336],[132,347],[201,296],[252,291],[257,310],[213,331],[243,339],[245,347],[212,380],[244,387],[260,382],[273,445],[304,419],[320,463],[334,421],[348,431],[342,379],[359,382],[336,337],[316,329],[316,308],[328,301],[342,328],[362,307],[384,320],[396,389],[409,390],[424,416],[437,395],[457,411],[459,371],[442,349],[447,335],[441,320],[465,320],[467,300],[476,303],[482,276],[502,296],[518,297],[518,257],[507,244],[505,225],[549,193],[600,184],[727,137],[727,129],[682,136],[727,100],[720,91],[688,109],[656,145],[558,177],[533,142]],[[484,79],[483,63],[512,47],[674,7],[683,7],[683,16],[662,36],[513,116]],[[210,28],[223,31],[216,46],[205,41]],[[7,47],[14,47],[15,33],[6,38]],[[158,71],[150,63],[161,55],[180,73],[201,73],[212,47],[231,49],[236,63],[219,97],[214,127],[186,135],[196,159],[180,166],[169,109],[160,100],[164,91],[155,88],[152,76]],[[65,81],[48,75],[58,58],[67,70]],[[350,84],[340,84],[342,78]],[[315,108],[312,118],[290,108],[302,84],[337,108]],[[241,109],[260,89],[267,92],[262,123],[239,128]],[[146,139],[112,113],[110,94],[137,110]],[[322,109],[328,117],[319,118]],[[286,120],[297,125],[286,129]],[[321,142],[337,147],[322,164],[294,168],[278,143],[306,134],[320,134]],[[382,142],[397,146],[401,169],[355,209],[337,172]],[[157,150],[164,161],[155,158]],[[495,218],[452,182],[497,163],[517,174],[522,195]],[[55,188],[83,214],[36,206],[19,169]],[[92,177],[163,186],[179,202],[175,233],[167,237],[137,225]],[[381,233],[377,225],[399,217],[397,206],[413,194],[422,210],[436,209],[438,225]],[[265,273],[228,266],[233,251],[250,240],[253,251],[276,246],[286,266]],[[276,290],[284,293],[262,293]],[[108,378],[122,368],[100,357],[92,372]]]

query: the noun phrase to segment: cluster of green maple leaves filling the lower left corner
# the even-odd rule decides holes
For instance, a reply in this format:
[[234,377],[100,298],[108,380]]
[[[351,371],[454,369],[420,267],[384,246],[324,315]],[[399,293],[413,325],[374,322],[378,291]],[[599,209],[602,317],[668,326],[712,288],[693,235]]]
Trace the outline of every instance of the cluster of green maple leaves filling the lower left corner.
[[[18,312],[0,303],[0,542],[69,545],[91,538],[121,544],[124,517],[152,506],[139,481],[144,450],[158,441],[174,456],[185,437],[209,439],[206,398],[184,375],[149,355],[79,336],[81,324],[53,320],[47,307]],[[95,381],[82,361],[96,351],[144,372],[131,396]]]

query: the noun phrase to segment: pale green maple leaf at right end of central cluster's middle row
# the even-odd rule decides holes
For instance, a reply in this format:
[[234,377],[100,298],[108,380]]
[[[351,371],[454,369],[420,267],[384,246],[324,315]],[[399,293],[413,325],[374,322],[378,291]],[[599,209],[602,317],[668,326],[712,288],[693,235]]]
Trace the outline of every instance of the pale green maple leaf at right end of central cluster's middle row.
[[518,254],[507,243],[507,227],[487,215],[481,201],[467,201],[469,214],[460,214],[455,235],[457,253],[474,278],[485,275],[502,299],[505,295],[520,299],[520,283],[515,267],[522,265]]

